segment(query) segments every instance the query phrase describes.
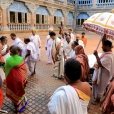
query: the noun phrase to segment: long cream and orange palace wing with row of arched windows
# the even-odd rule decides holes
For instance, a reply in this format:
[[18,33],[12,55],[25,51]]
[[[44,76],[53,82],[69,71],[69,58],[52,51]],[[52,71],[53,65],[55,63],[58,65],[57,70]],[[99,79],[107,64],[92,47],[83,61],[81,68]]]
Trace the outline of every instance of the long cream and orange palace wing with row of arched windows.
[[0,32],[73,28],[74,0],[0,0]]

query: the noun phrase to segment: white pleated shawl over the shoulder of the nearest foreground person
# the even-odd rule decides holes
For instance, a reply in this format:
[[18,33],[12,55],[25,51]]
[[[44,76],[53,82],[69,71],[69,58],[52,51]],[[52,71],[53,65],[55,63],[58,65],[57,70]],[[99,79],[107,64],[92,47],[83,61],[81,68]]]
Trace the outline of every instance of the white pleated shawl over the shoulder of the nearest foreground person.
[[83,111],[77,92],[69,85],[62,86],[54,92],[48,108],[51,114],[87,114]]

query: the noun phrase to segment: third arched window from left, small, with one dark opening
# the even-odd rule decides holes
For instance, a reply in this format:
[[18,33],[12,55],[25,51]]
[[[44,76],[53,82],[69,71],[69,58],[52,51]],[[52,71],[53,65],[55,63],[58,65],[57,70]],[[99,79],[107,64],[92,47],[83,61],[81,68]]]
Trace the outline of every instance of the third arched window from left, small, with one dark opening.
[[61,10],[56,10],[54,13],[54,24],[60,24],[61,22],[63,22],[63,13]]

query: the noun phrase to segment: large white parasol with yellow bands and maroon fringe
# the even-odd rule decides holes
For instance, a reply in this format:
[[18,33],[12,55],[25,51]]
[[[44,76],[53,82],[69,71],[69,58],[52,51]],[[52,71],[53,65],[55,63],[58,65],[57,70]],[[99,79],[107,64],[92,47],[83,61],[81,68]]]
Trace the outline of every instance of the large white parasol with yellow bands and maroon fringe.
[[[112,12],[114,12],[114,10],[112,10]],[[106,34],[107,38],[114,40],[114,13],[96,13],[83,23],[83,28],[90,32],[101,35],[102,37],[100,42],[102,41],[104,34]],[[100,45],[100,42],[97,46],[97,49]]]

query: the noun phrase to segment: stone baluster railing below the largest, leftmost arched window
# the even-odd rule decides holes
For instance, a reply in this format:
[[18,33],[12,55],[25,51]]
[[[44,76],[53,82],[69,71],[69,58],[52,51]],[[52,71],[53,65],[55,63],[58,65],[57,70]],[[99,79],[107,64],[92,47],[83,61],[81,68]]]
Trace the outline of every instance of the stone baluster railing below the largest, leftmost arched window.
[[10,30],[30,30],[30,24],[27,23],[9,23],[8,28]]

